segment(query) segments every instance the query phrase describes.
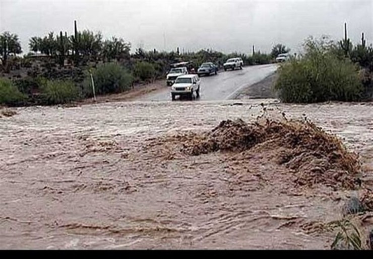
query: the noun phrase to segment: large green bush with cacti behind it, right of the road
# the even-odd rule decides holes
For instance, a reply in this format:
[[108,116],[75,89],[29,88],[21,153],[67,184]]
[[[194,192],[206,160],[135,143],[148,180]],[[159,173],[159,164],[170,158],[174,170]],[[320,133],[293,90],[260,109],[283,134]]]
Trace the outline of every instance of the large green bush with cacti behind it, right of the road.
[[279,68],[274,85],[286,103],[362,101],[373,98],[373,47],[353,46],[347,38],[334,42],[328,37],[308,38],[304,53]]

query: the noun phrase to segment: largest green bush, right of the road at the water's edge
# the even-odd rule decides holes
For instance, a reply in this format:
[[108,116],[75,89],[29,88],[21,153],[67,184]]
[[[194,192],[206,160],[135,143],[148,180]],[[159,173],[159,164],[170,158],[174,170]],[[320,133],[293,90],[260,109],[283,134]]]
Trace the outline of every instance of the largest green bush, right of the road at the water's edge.
[[318,42],[307,42],[305,55],[285,62],[278,72],[275,90],[286,103],[357,101],[361,97],[358,67]]

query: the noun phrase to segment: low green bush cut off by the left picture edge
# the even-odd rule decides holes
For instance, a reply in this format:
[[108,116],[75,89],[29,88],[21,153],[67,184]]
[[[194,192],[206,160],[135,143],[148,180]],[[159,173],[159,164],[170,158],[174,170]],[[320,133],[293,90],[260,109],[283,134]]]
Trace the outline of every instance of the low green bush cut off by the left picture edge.
[[27,96],[22,94],[8,78],[0,78],[0,104],[8,106],[22,105]]

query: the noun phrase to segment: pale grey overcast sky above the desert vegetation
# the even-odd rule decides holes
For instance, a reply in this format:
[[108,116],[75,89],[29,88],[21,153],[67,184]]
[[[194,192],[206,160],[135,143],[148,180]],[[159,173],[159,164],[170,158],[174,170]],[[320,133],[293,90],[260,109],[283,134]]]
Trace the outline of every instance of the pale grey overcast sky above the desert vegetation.
[[[373,0],[0,0],[0,32],[19,35],[24,53],[32,36],[60,30],[101,31],[149,50],[269,52],[283,43],[298,52],[309,35],[373,43]],[[164,37],[165,36],[165,37]]]

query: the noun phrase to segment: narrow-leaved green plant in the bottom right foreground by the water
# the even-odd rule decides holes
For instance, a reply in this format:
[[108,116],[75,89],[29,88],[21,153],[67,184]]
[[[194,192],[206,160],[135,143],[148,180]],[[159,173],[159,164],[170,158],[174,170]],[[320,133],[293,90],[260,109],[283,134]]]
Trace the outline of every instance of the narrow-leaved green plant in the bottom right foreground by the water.
[[329,223],[329,227],[332,229],[339,229],[339,232],[331,245],[332,249],[363,249],[360,233],[349,220],[333,221]]

